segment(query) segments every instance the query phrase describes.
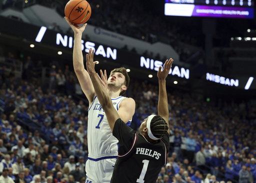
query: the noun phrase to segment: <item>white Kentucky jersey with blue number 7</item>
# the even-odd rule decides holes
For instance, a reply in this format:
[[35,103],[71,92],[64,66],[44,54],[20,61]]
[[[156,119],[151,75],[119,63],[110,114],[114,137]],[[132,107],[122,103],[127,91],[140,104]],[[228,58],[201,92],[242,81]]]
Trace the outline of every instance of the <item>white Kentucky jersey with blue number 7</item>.
[[[126,97],[111,98],[116,110],[118,110],[119,104],[124,98]],[[130,122],[131,120],[127,122],[127,125]],[[118,140],[112,135],[105,112],[97,96],[94,97],[88,109],[87,140],[88,158],[91,160],[100,160],[104,159],[104,157],[117,156],[118,154]]]

